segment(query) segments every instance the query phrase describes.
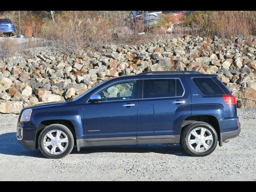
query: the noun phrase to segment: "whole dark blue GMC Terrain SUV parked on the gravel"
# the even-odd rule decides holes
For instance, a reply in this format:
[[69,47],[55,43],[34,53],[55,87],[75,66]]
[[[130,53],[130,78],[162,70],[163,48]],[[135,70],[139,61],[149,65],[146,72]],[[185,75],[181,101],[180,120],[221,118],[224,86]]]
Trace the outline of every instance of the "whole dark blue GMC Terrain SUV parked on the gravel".
[[182,144],[206,156],[238,136],[236,100],[217,75],[143,72],[112,78],[59,103],[23,108],[18,142],[62,158],[76,145]]

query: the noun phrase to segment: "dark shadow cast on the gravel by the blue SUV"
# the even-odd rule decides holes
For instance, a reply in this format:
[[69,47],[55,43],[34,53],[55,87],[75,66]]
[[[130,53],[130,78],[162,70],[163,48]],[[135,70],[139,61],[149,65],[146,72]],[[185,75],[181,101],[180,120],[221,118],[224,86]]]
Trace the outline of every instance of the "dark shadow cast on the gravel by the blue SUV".
[[[37,158],[46,158],[40,150],[27,150],[18,143],[16,132],[4,133],[0,135],[0,154],[14,156],[31,156]],[[143,145],[118,145],[118,146],[93,146],[84,147],[80,152],[76,147],[71,154],[91,154],[97,152],[113,152],[113,153],[160,153],[172,154],[176,156],[189,156],[180,144],[143,144]]]

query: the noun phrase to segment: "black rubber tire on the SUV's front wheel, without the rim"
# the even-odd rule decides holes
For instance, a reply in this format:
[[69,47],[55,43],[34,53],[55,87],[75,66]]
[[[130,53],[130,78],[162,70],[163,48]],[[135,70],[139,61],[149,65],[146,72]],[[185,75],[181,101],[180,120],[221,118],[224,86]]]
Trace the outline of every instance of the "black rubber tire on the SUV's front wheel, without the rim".
[[[51,130],[60,130],[62,132],[64,132],[68,138],[68,145],[67,148],[64,152],[62,152],[61,154],[50,154],[45,148],[44,148],[44,136]],[[42,130],[42,132],[39,135],[38,138],[38,146],[40,148],[40,151],[42,152],[42,154],[48,158],[51,159],[60,159],[63,158],[64,156],[70,154],[70,152],[72,151],[73,147],[74,147],[74,137],[72,132],[70,131],[70,129],[62,124],[51,124],[49,126],[46,126],[46,128],[44,128],[44,130]],[[65,146],[66,147],[66,146]]]

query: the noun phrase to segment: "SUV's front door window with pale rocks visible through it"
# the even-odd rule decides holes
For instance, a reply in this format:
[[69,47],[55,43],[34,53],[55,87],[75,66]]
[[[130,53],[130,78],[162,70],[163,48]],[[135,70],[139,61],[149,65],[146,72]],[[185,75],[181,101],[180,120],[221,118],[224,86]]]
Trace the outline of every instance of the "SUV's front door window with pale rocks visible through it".
[[118,82],[100,90],[99,94],[102,101],[116,101],[136,98],[136,80],[128,82]]

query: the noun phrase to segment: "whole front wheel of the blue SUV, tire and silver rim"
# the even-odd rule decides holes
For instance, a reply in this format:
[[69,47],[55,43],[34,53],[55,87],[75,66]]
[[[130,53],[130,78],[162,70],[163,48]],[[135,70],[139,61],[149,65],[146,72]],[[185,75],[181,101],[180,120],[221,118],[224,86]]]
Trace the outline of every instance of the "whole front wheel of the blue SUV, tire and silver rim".
[[59,159],[70,154],[74,147],[74,138],[66,126],[52,124],[40,133],[38,146],[44,156]]

